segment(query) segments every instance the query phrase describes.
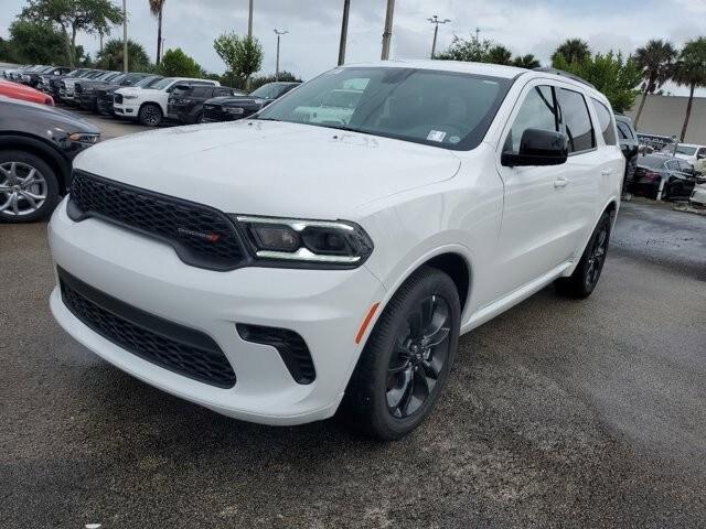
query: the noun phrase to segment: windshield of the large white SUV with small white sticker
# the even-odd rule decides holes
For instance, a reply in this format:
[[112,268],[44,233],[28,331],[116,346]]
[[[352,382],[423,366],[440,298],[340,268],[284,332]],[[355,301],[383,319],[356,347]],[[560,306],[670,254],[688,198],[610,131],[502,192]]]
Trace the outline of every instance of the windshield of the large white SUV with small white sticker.
[[511,84],[457,72],[336,68],[275,101],[259,118],[468,150],[480,143]]

